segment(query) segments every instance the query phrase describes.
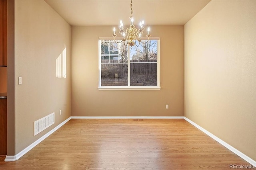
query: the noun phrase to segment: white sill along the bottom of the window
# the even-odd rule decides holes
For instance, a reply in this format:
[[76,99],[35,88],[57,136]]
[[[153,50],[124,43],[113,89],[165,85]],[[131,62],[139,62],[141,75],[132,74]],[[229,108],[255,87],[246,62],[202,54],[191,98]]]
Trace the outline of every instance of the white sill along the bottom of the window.
[[160,90],[160,87],[122,87],[122,86],[112,86],[112,87],[99,87],[99,90]]

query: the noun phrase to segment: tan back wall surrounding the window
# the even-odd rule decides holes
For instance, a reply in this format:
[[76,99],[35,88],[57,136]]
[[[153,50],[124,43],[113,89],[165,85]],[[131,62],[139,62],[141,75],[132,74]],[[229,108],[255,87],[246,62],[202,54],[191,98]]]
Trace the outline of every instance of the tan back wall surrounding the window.
[[183,116],[183,26],[151,27],[161,44],[159,91],[98,90],[98,39],[111,37],[112,29],[72,26],[72,116]]

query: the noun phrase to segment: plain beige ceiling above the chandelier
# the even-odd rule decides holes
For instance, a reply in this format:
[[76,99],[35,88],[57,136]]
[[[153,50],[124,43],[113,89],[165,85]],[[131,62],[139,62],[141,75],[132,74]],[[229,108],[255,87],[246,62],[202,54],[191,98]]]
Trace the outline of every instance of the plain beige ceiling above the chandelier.
[[[70,25],[130,24],[130,0],[45,0]],[[184,25],[210,0],[133,0],[134,24]]]

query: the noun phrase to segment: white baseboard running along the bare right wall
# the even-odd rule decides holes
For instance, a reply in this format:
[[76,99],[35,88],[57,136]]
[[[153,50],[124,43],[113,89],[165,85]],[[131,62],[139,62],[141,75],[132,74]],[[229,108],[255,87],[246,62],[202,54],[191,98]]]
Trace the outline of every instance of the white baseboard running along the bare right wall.
[[189,123],[191,123],[192,125],[194,125],[195,127],[197,127],[200,131],[206,133],[206,135],[210,136],[212,139],[214,139],[215,141],[217,141],[218,143],[220,143],[221,145],[223,145],[224,147],[226,147],[227,149],[231,150],[232,152],[234,152],[235,154],[237,154],[238,156],[240,156],[242,159],[246,160],[248,163],[250,163],[252,166],[256,167],[256,161],[253,160],[252,158],[250,158],[249,156],[246,156],[244,153],[240,152],[239,150],[235,149],[234,147],[232,147],[231,145],[229,145],[228,143],[222,141],[220,138],[216,137],[215,135],[213,135],[212,133],[210,133],[209,131],[207,131],[206,129],[202,128],[201,126],[199,126],[198,124],[194,123],[193,121],[191,121],[190,119],[184,117],[184,119],[186,121],[188,121]]

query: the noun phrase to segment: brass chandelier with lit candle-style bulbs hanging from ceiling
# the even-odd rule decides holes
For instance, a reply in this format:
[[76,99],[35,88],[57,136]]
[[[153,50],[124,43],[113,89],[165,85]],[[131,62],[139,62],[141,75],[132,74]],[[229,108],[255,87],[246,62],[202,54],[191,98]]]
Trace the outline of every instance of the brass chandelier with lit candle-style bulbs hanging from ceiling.
[[[133,22],[134,22],[134,19],[132,17],[132,0],[131,0],[131,4],[130,4],[130,7],[131,7],[131,16],[130,16],[130,19],[131,19],[131,25],[130,27],[128,27],[126,29],[126,31],[124,31],[124,25],[123,25],[123,22],[122,20],[120,20],[120,25],[119,25],[119,33],[121,34],[122,36],[122,41],[116,41],[115,37],[117,36],[116,35],[116,28],[114,27],[113,31],[113,35],[112,37],[114,37],[114,41],[116,43],[121,43],[124,41],[124,45],[130,45],[130,46],[134,46],[136,45],[137,47],[140,45],[140,43],[147,43],[148,41],[146,42],[142,42],[141,40],[141,37],[142,37],[142,34],[143,34],[143,31],[145,30],[144,28],[144,21],[141,21],[140,22],[140,29],[136,29],[136,27],[133,25]],[[149,34],[149,31],[150,31],[150,28],[148,27],[148,34],[146,35],[146,37],[148,37],[148,40],[149,40],[149,37],[151,37],[151,35]],[[139,42],[139,44],[137,45],[136,44],[136,40]]]

